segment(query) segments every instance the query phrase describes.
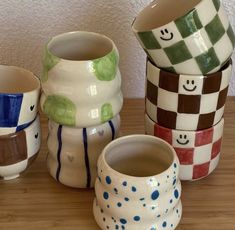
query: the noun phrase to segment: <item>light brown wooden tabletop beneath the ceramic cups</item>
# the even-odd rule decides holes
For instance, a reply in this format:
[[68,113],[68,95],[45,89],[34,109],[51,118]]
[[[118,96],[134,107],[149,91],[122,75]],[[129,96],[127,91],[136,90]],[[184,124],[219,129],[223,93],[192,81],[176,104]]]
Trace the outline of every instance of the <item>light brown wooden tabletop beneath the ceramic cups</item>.
[[[122,134],[144,133],[143,114],[143,100],[126,100]],[[183,183],[183,218],[177,230],[235,230],[235,98],[228,99],[225,121],[219,167],[204,180]],[[36,162],[23,177],[0,181],[0,230],[98,230],[93,190],[71,189],[49,176],[44,116],[41,122],[43,145]]]

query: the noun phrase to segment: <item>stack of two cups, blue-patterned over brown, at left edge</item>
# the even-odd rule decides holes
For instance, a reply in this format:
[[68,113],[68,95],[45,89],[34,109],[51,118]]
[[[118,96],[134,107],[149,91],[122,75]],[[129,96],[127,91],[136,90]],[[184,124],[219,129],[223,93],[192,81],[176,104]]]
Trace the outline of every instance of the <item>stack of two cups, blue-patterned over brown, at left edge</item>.
[[39,79],[28,70],[0,65],[0,178],[19,177],[41,144]]

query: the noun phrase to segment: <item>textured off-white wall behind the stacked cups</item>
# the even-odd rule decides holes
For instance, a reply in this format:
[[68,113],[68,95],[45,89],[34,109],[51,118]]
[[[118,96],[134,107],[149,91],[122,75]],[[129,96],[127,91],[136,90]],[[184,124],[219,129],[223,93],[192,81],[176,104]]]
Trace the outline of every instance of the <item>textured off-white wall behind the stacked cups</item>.
[[[40,75],[43,46],[50,37],[74,30],[99,32],[112,38],[120,51],[124,95],[143,97],[145,54],[131,23],[150,1],[0,0],[0,63]],[[235,30],[235,0],[223,3]],[[235,71],[233,76],[230,95],[235,95]]]

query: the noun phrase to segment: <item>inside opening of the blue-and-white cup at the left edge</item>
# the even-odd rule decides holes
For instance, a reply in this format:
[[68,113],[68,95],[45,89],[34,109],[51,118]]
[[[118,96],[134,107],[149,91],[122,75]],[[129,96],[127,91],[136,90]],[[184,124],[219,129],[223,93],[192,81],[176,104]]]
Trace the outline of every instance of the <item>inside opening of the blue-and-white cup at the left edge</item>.
[[33,73],[15,66],[0,66],[0,93],[26,93],[40,87]]

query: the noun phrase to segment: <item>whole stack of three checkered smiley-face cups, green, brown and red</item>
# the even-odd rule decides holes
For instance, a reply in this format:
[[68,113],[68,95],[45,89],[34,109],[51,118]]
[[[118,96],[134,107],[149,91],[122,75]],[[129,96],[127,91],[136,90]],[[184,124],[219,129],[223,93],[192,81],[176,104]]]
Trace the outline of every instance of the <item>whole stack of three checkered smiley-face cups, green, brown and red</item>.
[[148,55],[146,133],[170,143],[180,179],[218,165],[235,36],[219,0],[158,0],[135,19]]

